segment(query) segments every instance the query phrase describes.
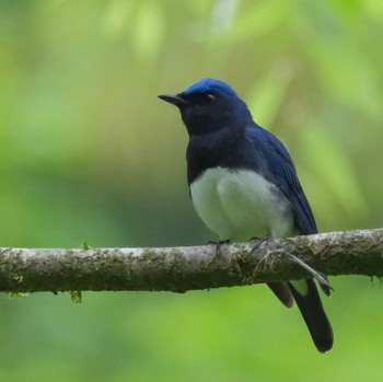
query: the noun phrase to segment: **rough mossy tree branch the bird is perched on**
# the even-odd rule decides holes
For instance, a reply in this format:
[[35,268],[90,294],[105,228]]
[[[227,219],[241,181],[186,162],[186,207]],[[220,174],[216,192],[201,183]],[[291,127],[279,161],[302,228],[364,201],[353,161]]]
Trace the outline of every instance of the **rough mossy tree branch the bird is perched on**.
[[254,243],[164,247],[0,248],[0,290],[185,292],[302,279],[289,254],[328,276],[383,276],[383,229],[329,232]]

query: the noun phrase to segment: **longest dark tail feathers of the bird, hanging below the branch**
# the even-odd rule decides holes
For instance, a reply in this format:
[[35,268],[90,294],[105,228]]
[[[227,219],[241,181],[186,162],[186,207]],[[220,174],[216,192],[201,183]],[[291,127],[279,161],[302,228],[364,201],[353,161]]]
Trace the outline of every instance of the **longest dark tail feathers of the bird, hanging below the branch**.
[[314,280],[307,279],[305,281],[307,286],[305,294],[298,292],[291,282],[288,282],[289,289],[297,301],[316,348],[321,352],[325,352],[333,347],[332,325],[323,309]]

